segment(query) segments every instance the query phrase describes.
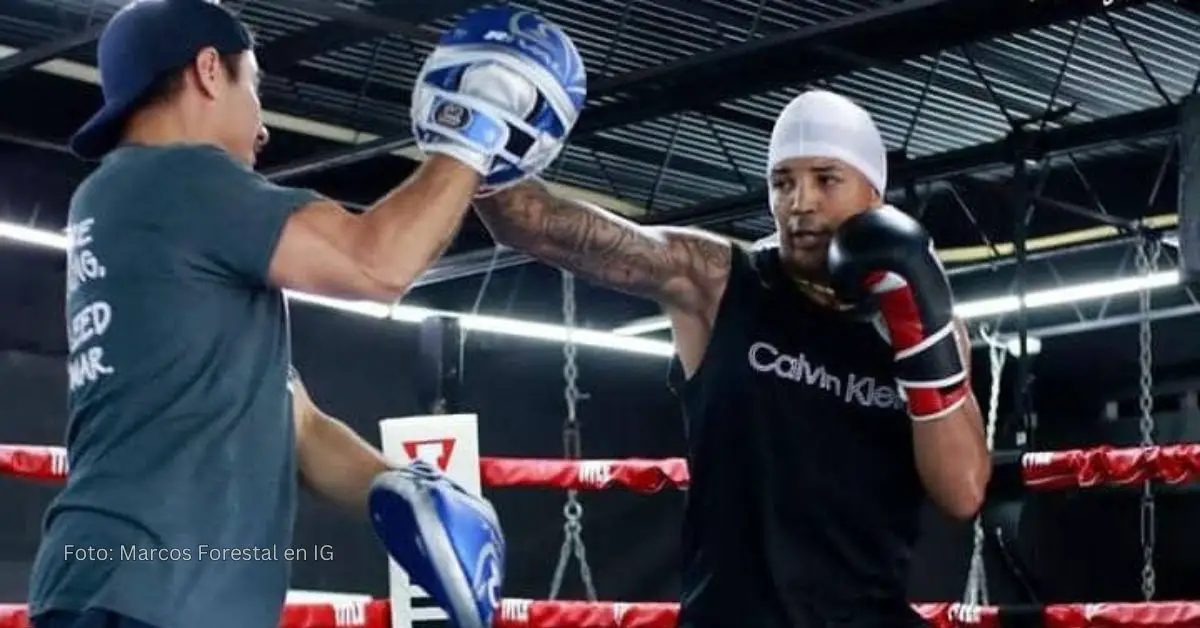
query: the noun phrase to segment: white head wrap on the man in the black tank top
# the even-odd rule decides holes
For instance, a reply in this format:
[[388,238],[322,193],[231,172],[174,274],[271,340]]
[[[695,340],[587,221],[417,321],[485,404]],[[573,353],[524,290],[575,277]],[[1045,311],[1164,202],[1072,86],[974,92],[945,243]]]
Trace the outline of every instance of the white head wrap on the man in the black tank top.
[[887,191],[888,151],[883,138],[871,114],[845,96],[805,91],[784,107],[770,132],[767,172],[796,157],[841,160],[863,173],[881,197]]

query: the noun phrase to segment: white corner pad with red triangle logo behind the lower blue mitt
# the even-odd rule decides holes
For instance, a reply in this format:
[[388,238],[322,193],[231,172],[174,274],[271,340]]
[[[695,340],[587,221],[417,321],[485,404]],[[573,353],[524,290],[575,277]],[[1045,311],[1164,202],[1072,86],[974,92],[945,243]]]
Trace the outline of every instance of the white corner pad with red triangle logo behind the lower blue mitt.
[[[394,466],[421,459],[437,466],[467,492],[481,495],[479,476],[479,420],[475,414],[428,414],[389,418],[379,421],[383,455]],[[427,593],[409,586],[408,574],[388,560],[388,593],[391,599],[391,628],[412,628],[413,620],[445,618],[414,612],[413,599]]]

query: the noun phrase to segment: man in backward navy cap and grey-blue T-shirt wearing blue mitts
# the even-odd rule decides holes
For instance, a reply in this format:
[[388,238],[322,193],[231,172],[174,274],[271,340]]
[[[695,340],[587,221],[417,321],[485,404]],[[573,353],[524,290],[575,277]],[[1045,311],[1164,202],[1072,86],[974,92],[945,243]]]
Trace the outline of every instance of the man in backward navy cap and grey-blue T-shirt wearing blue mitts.
[[71,140],[100,161],[68,213],[71,472],[46,513],[32,623],[278,626],[287,561],[221,557],[290,546],[298,479],[364,515],[371,504],[389,549],[449,544],[398,560],[457,624],[490,622],[461,604],[476,592],[448,561],[490,551],[485,581],[498,582],[498,525],[486,546],[456,534],[494,518],[436,472],[391,469],[312,403],[289,377],[283,291],[401,298],[473,197],[562,149],[586,94],[570,40],[506,8],[463,17],[413,90],[428,160],[364,214],[253,171],[268,142],[253,37],[218,2],[131,2],[97,56],[104,103]]

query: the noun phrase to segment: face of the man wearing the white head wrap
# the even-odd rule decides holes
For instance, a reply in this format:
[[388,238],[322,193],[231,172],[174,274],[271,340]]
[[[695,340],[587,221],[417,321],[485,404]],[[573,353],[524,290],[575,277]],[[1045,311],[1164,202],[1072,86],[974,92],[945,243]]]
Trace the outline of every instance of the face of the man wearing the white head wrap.
[[829,238],[842,221],[880,204],[870,181],[841,160],[797,157],[770,172],[780,258],[790,270],[823,277]]

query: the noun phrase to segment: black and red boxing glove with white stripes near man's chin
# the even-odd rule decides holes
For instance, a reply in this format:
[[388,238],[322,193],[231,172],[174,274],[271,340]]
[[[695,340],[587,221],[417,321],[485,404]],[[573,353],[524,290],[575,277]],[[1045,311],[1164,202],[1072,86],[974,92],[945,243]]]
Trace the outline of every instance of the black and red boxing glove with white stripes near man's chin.
[[950,282],[920,223],[890,205],[846,220],[829,243],[829,274],[840,299],[874,301],[913,420],[942,418],[966,401]]

